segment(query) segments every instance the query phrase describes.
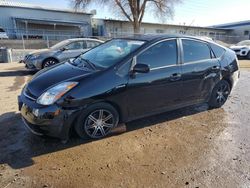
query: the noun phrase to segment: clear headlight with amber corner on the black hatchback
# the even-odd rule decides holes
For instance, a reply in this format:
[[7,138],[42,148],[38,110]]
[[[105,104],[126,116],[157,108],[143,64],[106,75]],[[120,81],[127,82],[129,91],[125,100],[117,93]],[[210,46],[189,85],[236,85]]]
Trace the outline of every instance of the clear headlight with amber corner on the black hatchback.
[[46,92],[44,92],[38,99],[37,103],[42,105],[51,105],[60,99],[65,93],[74,88],[78,82],[63,82],[60,83]]

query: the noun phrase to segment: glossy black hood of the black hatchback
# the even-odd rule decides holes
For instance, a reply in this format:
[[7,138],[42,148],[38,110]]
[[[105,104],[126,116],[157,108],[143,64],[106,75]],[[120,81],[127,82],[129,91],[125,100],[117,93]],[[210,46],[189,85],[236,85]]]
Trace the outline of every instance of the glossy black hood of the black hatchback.
[[94,72],[96,71],[80,69],[65,62],[39,71],[26,88],[33,96],[39,97],[46,90],[63,81],[77,81]]

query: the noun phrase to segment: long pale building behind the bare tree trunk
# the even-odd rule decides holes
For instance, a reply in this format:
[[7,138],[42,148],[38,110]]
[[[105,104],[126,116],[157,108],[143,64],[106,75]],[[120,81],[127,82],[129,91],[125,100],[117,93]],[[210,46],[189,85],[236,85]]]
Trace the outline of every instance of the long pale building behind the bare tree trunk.
[[[122,20],[92,19],[92,27],[94,35],[99,35],[99,36],[120,36],[133,33],[132,24],[128,21],[122,21]],[[215,37],[218,38],[218,36],[227,35],[229,31],[231,31],[231,29],[143,22],[141,24],[140,33],[187,34],[194,36],[207,36],[211,38]]]

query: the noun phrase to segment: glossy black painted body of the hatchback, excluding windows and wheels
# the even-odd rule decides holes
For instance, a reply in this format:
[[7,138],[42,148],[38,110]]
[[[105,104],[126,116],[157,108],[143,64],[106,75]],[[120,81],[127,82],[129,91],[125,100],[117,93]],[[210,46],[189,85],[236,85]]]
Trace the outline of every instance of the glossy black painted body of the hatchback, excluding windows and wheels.
[[[46,129],[48,133],[45,134],[66,139],[77,114],[93,103],[113,105],[120,114],[120,121],[127,122],[207,102],[213,87],[222,79],[234,85],[234,73],[239,67],[233,51],[221,47],[224,53],[216,57],[210,49],[211,59],[183,63],[182,38],[214,45],[212,41],[186,36],[138,36],[130,40],[144,40],[145,43],[107,69],[87,71],[67,62],[56,65],[39,72],[27,84],[25,89],[35,99],[60,82],[77,81],[79,84],[51,106],[38,105],[22,92],[19,97],[19,104],[24,104],[22,116],[26,123]],[[148,73],[133,71],[138,54],[155,43],[170,39],[175,39],[178,44],[176,64],[150,69]],[[39,110],[38,117],[32,115],[34,109]],[[46,116],[48,113],[49,117]]]

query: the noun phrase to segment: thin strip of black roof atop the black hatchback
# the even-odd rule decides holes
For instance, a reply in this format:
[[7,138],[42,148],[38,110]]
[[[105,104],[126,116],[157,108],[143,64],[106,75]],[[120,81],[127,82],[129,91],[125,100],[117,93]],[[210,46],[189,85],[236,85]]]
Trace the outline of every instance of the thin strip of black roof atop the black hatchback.
[[196,40],[202,40],[211,42],[211,40],[202,38],[202,37],[194,37],[194,36],[188,36],[188,35],[178,35],[178,34],[138,34],[138,35],[131,35],[127,37],[121,37],[121,39],[130,39],[130,40],[142,40],[142,41],[155,41],[155,40],[162,40],[162,39],[168,39],[168,38],[190,38],[190,39],[196,39]]

